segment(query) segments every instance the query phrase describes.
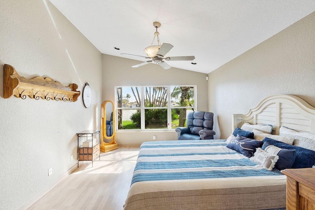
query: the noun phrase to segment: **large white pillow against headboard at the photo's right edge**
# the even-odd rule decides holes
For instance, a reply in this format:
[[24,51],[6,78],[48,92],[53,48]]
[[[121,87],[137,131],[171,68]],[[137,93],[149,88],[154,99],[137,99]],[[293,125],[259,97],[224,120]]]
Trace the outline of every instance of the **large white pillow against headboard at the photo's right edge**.
[[298,132],[287,127],[280,127],[280,136],[294,138],[294,146],[315,151],[315,134]]

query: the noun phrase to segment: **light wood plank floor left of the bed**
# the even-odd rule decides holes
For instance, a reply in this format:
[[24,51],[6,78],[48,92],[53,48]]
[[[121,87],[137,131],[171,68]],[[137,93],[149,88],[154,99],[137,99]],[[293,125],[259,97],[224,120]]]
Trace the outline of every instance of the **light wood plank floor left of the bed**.
[[139,147],[119,147],[94,162],[80,162],[28,210],[123,210]]

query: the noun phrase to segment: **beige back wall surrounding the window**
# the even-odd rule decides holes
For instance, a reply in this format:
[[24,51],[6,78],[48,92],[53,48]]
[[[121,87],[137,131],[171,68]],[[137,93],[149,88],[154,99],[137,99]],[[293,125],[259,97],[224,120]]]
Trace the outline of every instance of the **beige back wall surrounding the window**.
[[[141,61],[103,55],[103,100],[115,101],[115,86],[196,85],[197,110],[208,110],[207,74],[178,68],[164,70],[159,65],[147,64],[138,68],[132,65]],[[177,140],[174,130],[163,132],[117,132],[116,141],[124,145],[140,145],[145,141]]]

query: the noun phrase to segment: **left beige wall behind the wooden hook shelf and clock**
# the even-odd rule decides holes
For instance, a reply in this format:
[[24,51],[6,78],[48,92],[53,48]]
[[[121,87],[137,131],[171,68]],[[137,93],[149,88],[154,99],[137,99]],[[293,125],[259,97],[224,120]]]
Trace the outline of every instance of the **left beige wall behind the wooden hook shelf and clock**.
[[[49,0],[0,0],[0,209],[18,209],[76,165],[76,133],[99,128],[101,53]],[[90,83],[93,103],[3,98],[3,63],[21,76]],[[73,161],[70,155],[73,154]],[[48,177],[48,169],[52,176]]]

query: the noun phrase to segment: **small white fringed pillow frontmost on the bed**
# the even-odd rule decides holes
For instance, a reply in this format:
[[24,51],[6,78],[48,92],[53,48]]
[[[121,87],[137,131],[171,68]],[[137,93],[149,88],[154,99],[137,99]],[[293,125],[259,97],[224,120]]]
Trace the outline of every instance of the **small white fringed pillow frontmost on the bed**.
[[276,154],[270,154],[265,150],[261,150],[261,148],[257,148],[254,156],[251,157],[251,160],[271,171],[275,167],[276,162],[279,160],[279,156]]

